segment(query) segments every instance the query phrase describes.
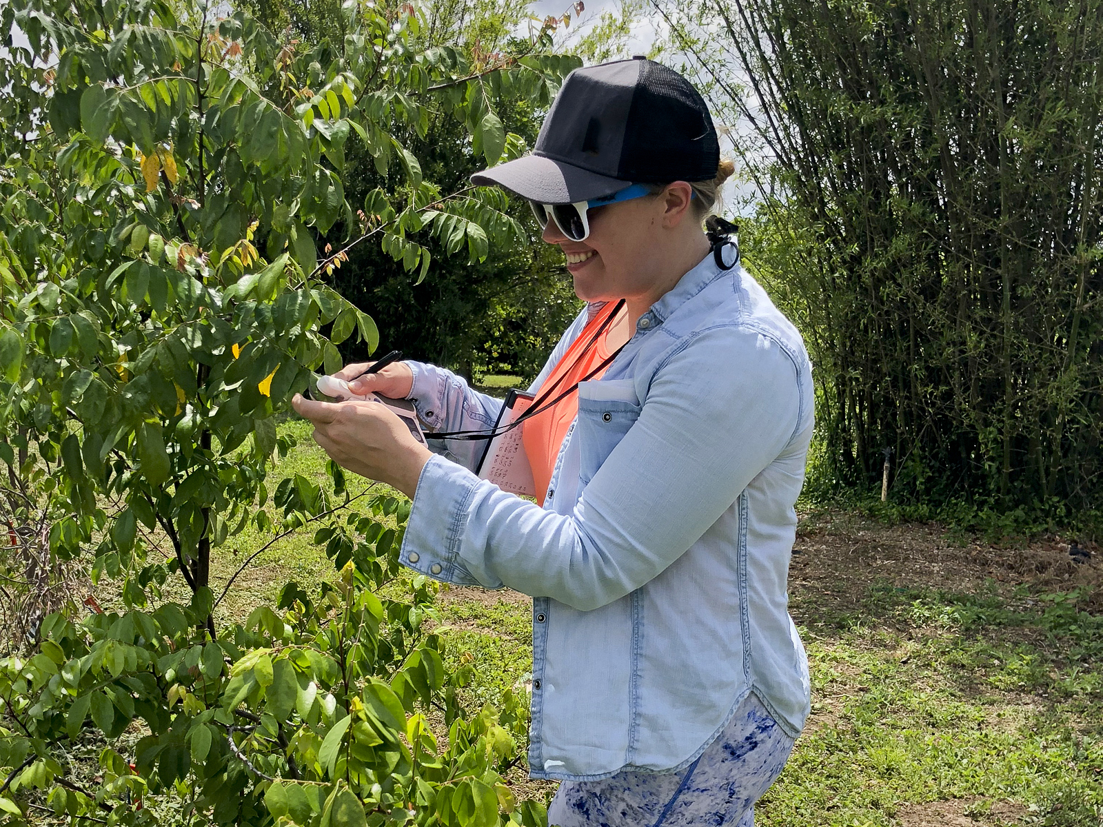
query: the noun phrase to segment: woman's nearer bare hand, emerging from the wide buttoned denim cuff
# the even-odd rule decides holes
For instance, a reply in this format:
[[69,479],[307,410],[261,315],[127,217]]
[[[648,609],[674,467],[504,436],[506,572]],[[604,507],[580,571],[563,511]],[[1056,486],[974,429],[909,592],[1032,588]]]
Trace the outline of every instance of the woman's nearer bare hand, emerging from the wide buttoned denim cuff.
[[342,468],[414,498],[432,453],[379,402],[319,402],[296,394],[291,407],[314,426],[314,441]]

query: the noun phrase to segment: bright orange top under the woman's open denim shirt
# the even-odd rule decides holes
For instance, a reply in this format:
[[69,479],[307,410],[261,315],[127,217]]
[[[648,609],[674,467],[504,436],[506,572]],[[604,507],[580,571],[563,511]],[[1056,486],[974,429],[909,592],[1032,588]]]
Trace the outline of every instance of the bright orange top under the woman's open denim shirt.
[[[590,345],[590,340],[593,339],[593,334],[601,327],[602,322],[609,319],[617,310],[617,302],[609,302],[582,329],[578,339],[571,343],[570,347],[563,355],[563,358],[559,359],[559,364],[548,374],[548,377],[537,391],[537,396],[543,394],[546,388],[555,385],[556,380],[563,377],[559,384],[555,385],[555,390],[552,393],[550,398],[554,399],[563,391],[574,387],[576,383],[580,382],[587,374],[609,358],[609,355],[613,352],[609,346],[609,336],[610,333],[617,331],[618,323],[610,323],[592,345]],[[621,315],[623,316],[623,312]],[[590,379],[600,379],[607,368],[608,366],[591,376]],[[524,426],[521,428],[521,439],[525,445],[528,464],[533,469],[533,481],[536,483],[536,502],[540,505],[544,505],[544,498],[547,496],[548,483],[552,482],[552,472],[555,470],[555,461],[559,457],[559,448],[563,445],[563,440],[567,436],[570,423],[575,421],[575,417],[577,416],[578,394],[574,393],[565,399],[560,399],[547,410],[537,414],[532,419],[526,419]]]

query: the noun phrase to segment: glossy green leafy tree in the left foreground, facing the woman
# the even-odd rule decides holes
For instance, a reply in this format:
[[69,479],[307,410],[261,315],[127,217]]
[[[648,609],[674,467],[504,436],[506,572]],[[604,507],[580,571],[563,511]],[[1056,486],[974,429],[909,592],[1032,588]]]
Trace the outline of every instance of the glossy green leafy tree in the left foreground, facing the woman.
[[[93,579],[118,578],[124,603],[50,614],[29,652],[0,662],[12,816],[41,806],[29,796],[43,788],[60,816],[117,824],[158,820],[147,796],[195,824],[540,817],[515,808],[497,774],[523,732],[515,702],[473,718],[456,706],[463,675],[443,674],[421,629],[433,587],[376,594],[397,574],[407,506],[350,511],[364,492],[347,493],[335,465],[336,501],[301,476],[275,492],[266,479],[291,448],[274,420],[291,394],[336,369],[341,342],[378,339],[326,281],[350,250],[378,243],[424,278],[430,236],[472,260],[521,237],[501,193],[448,193],[401,138],[424,137],[439,110],[496,162],[523,142],[485,87],[546,98],[577,62],[546,53],[543,31],[480,65],[420,49],[426,15],[408,3],[340,14],[334,47],[210,7],[0,9],[4,493],[15,519],[46,515],[56,559],[90,550]],[[342,181],[355,142],[381,175],[401,171],[358,216]],[[289,583],[275,610],[221,625],[214,550],[247,524],[308,523],[339,581]],[[147,554],[160,547],[168,562]],[[190,600],[167,599],[176,578]],[[450,727],[447,749],[430,710]],[[149,734],[124,754],[136,719]],[[107,744],[96,790],[64,759],[89,727]]]

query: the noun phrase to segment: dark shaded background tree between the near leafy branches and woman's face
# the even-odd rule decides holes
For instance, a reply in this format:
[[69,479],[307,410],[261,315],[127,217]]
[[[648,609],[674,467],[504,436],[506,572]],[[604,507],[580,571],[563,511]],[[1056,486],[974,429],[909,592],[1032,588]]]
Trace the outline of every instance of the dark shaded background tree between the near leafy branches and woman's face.
[[[245,0],[242,6],[269,29],[288,28],[302,42],[343,42],[335,3]],[[554,30],[548,23],[549,32],[564,31],[564,19],[569,20],[579,8],[565,6],[567,11],[556,19]],[[418,47],[453,44],[474,64],[527,49],[528,42],[512,33],[525,22],[534,22],[527,7],[501,0],[433,3],[427,17],[415,39]],[[547,98],[518,98],[493,83],[484,88],[504,128],[531,144]],[[396,125],[395,133],[418,158],[425,176],[445,191],[464,189],[469,176],[485,167],[485,159],[472,152],[468,130],[448,112],[430,114],[425,135],[403,125]],[[390,191],[399,180],[398,170],[381,173],[362,146],[346,147],[342,181],[350,203],[362,203],[377,187]],[[435,264],[431,278],[421,281],[411,279],[384,250],[363,245],[351,250],[349,259],[333,271],[332,283],[353,303],[372,308],[373,318],[385,331],[387,350],[397,347],[469,377],[476,365],[534,376],[581,304],[563,270],[561,256],[542,249],[539,229],[527,205],[515,202],[508,214],[524,228],[527,243],[500,246],[483,261],[450,257],[443,240],[429,239],[426,246]],[[336,226],[340,228],[340,223]],[[345,361],[366,356],[364,346],[352,340],[340,350]]]

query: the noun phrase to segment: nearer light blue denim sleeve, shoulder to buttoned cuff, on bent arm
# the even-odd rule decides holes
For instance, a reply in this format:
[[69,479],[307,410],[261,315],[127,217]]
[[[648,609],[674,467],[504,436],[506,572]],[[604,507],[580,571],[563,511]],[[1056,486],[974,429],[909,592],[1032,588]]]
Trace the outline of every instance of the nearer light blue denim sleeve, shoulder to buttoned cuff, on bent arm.
[[606,605],[685,554],[792,442],[806,425],[799,382],[793,358],[765,335],[698,333],[655,372],[639,419],[572,513],[435,457],[400,559],[441,580]]

